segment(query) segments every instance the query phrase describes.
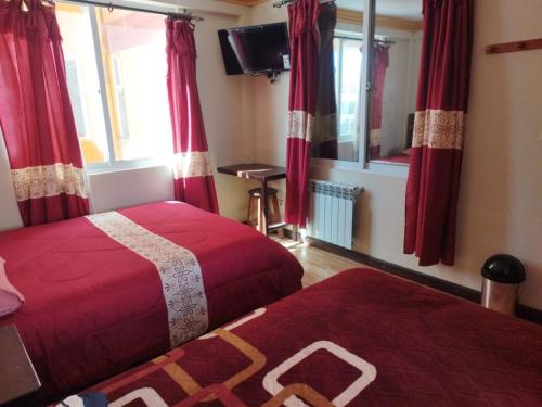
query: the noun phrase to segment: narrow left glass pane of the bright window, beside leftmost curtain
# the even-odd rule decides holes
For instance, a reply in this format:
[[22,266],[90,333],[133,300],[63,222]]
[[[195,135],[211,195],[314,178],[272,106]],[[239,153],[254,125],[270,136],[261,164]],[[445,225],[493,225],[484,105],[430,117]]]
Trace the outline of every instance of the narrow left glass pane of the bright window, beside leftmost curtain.
[[66,78],[83,160],[107,161],[107,138],[87,7],[57,3]]

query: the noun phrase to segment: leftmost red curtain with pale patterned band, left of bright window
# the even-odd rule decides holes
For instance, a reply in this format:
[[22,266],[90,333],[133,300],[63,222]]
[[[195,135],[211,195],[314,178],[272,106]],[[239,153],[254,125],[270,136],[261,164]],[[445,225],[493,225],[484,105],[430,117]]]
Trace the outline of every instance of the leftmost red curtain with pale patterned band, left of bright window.
[[89,213],[53,7],[0,2],[0,125],[25,226]]

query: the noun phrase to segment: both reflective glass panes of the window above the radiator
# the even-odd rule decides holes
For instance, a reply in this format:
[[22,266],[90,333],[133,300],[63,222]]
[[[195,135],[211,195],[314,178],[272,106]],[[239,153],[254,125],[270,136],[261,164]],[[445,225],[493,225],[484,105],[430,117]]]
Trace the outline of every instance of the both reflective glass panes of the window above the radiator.
[[[322,4],[313,157],[363,161],[360,143],[365,143],[367,162],[409,164],[422,48],[422,1],[375,0],[369,109],[362,98],[365,1]],[[362,120],[365,114],[366,120]]]

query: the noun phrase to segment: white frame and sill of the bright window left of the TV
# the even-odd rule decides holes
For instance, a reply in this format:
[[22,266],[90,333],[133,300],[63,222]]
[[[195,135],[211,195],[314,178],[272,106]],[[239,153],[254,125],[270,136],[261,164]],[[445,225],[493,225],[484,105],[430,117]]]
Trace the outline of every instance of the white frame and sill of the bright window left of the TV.
[[[104,117],[104,127],[105,127],[105,137],[106,137],[106,142],[107,142],[107,154],[106,154],[106,160],[103,163],[86,163],[83,158],[83,166],[87,169],[87,173],[92,175],[92,174],[103,174],[103,173],[111,173],[111,171],[117,171],[117,170],[125,170],[125,169],[137,169],[137,168],[147,168],[147,167],[154,167],[154,166],[166,166],[170,165],[169,158],[164,160],[164,157],[158,157],[158,156],[151,156],[151,157],[143,157],[143,158],[132,158],[132,160],[117,160],[115,156],[115,144],[114,144],[114,131],[113,131],[113,117],[112,117],[112,112],[114,112],[115,106],[109,105],[109,100],[107,97],[107,79],[105,77],[105,65],[104,61],[102,58],[102,48],[101,48],[101,41],[100,41],[100,27],[98,23],[98,17],[96,17],[96,5],[93,4],[81,4],[79,2],[75,1],[69,1],[69,0],[59,0],[59,3],[66,3],[66,4],[74,4],[78,5],[81,8],[87,8],[88,10],[88,18],[90,23],[90,29],[92,33],[92,47],[93,47],[93,52],[94,52],[94,61],[96,64],[96,72],[98,72],[98,82],[100,85],[100,100],[101,100],[101,105],[102,105],[102,112],[103,112],[103,117]],[[132,3],[132,2],[127,2],[127,1],[119,1],[117,2],[118,4],[121,5],[133,5],[137,7],[138,4]],[[154,11],[160,11],[164,13],[171,12],[176,13],[178,12],[178,7],[165,7],[165,8],[159,8],[159,7],[150,7],[149,10],[154,10]],[[144,13],[141,11],[140,13]],[[164,36],[166,34],[164,33]],[[164,58],[166,58],[164,55]],[[113,84],[114,85],[114,84]],[[115,89],[113,89],[115,91]],[[115,98],[116,94],[113,94]],[[79,138],[79,136],[78,136]],[[171,153],[172,156],[172,153]]]

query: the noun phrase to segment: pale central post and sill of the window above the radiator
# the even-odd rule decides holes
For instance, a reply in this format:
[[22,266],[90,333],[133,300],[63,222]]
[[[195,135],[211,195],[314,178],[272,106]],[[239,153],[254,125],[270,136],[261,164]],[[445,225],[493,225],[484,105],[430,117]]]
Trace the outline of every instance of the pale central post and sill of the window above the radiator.
[[[370,97],[372,91],[373,75],[372,75],[372,55],[370,50],[374,44],[375,34],[375,13],[376,0],[365,0],[363,8],[363,15],[369,18],[363,18],[361,30],[362,43],[362,68],[361,68],[361,86],[360,86],[360,131],[358,135],[359,149],[358,161],[344,161],[312,157],[311,163],[318,169],[324,170],[349,170],[356,173],[389,175],[405,178],[409,175],[409,166],[393,165],[386,163],[372,163],[367,158],[369,143],[370,143]],[[344,30],[344,29],[339,29]],[[365,40],[367,39],[367,40]]]

